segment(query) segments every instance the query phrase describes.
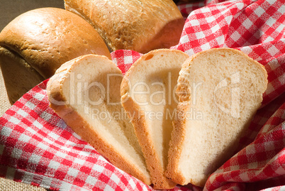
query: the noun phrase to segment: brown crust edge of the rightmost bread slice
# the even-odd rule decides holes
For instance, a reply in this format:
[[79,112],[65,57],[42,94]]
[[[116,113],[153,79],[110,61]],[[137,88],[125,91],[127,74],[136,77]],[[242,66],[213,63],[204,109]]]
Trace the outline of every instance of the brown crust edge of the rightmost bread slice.
[[[264,84],[267,84],[267,71],[264,69],[264,66],[259,64],[259,62],[252,60],[252,58],[250,58],[245,53],[242,53],[240,50],[235,50],[233,48],[213,48],[210,50],[203,51],[201,53],[196,53],[184,62],[184,64],[182,65],[181,72],[179,73],[179,80],[177,86],[177,96],[179,97],[177,116],[179,117],[174,120],[174,129],[172,131],[172,140],[170,141],[170,148],[169,148],[169,163],[167,165],[167,171],[166,171],[167,178],[173,180],[174,182],[177,182],[180,185],[186,185],[188,183],[191,183],[193,185],[203,187],[206,183],[206,179],[201,181],[195,181],[191,178],[190,182],[188,182],[184,177],[184,175],[179,170],[179,159],[181,158],[182,145],[186,139],[186,117],[184,116],[189,107],[191,107],[191,92],[190,92],[191,82],[189,82],[189,70],[191,69],[192,60],[194,60],[194,58],[196,58],[199,55],[211,54],[217,50],[242,55],[243,57],[251,60],[256,67],[261,68],[261,71],[264,75]],[[267,86],[263,87],[261,91],[265,92],[266,89]],[[260,97],[258,98],[257,101],[260,103],[262,102],[262,94],[260,94]],[[261,104],[259,104],[259,106],[260,105]],[[247,126],[247,124],[245,124],[245,126]],[[238,139],[241,136],[242,133],[240,133]],[[229,150],[235,151],[235,146],[232,146],[232,148],[230,148]],[[232,154],[233,153],[230,153],[225,158],[230,157]]]

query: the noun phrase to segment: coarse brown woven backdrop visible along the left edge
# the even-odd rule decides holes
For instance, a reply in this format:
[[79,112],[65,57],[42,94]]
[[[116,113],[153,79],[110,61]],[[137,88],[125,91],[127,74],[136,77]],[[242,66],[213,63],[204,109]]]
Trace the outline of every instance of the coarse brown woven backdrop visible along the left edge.
[[[40,7],[58,7],[64,9],[64,0],[0,0],[0,31],[16,16]],[[0,71],[0,116],[3,116],[9,107],[11,107],[11,104],[7,98],[4,80]],[[0,178],[0,190],[28,191],[45,189]]]

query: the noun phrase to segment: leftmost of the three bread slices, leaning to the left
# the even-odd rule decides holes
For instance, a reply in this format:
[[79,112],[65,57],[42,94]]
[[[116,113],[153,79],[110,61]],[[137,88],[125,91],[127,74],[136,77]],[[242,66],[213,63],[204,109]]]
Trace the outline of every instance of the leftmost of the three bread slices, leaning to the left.
[[106,56],[84,55],[63,64],[47,83],[50,107],[85,141],[150,185],[133,125],[121,106],[121,70]]

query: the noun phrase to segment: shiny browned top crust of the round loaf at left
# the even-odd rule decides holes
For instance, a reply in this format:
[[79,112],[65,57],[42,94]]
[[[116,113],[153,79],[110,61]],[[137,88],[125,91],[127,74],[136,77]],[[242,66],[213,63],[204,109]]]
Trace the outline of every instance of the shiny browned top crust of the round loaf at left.
[[41,8],[15,18],[0,33],[0,46],[12,50],[44,78],[80,55],[106,55],[108,48],[83,18],[64,9]]

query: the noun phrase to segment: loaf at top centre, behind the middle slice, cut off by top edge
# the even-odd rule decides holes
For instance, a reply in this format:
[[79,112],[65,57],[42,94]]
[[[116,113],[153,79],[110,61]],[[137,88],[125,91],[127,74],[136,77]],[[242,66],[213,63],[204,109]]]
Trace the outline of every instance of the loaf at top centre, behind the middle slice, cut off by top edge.
[[184,26],[172,0],[65,0],[65,9],[89,21],[111,51],[170,48],[179,43]]

